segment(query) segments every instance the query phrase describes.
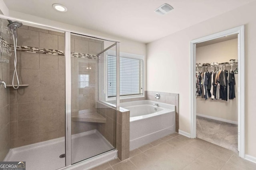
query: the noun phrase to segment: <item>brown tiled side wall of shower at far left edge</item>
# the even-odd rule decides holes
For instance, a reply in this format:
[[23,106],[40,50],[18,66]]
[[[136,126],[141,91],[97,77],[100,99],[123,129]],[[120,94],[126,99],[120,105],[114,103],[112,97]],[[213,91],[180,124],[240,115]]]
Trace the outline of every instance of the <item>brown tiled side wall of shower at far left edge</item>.
[[[3,21],[3,26],[7,21]],[[2,24],[0,24],[2,26]],[[9,58],[9,57],[5,57]],[[9,64],[0,63],[0,79],[9,82]],[[0,161],[3,161],[10,149],[10,114],[9,114],[9,88],[0,85]]]

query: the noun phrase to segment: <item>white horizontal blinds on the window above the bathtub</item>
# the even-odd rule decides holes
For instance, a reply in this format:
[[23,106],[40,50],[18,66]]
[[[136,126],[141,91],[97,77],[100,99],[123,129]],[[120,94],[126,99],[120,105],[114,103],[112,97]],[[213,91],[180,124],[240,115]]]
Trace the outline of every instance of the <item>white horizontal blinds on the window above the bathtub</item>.
[[[120,57],[120,96],[143,94],[143,60]],[[108,97],[116,96],[116,56],[108,55]]]

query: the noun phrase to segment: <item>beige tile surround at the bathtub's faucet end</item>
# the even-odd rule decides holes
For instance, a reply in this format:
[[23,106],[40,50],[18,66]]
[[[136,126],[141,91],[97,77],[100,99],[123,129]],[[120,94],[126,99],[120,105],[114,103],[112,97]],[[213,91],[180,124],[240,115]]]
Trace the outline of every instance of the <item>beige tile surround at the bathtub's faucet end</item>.
[[[156,93],[160,94],[160,99],[156,99]],[[179,94],[176,93],[166,93],[166,92],[155,92],[155,91],[146,91],[146,99],[156,102],[166,103],[175,105],[175,125],[176,132],[179,131]]]

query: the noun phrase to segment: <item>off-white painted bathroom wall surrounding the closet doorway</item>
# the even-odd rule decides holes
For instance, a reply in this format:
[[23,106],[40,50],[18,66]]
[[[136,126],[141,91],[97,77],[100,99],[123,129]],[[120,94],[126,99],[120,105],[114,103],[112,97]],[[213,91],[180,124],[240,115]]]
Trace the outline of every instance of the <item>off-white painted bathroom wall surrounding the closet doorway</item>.
[[245,25],[245,153],[256,157],[256,2],[147,44],[147,90],[179,94],[180,130],[190,133],[190,41]]

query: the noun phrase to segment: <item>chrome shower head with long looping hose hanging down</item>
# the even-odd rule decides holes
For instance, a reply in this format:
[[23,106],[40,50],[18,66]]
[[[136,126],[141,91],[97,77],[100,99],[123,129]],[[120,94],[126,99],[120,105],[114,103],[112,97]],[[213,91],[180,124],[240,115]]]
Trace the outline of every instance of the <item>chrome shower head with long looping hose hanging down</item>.
[[[20,86],[20,81],[19,81],[19,77],[18,77],[18,73],[17,73],[17,28],[22,26],[21,22],[17,22],[17,21],[10,21],[8,20],[9,24],[7,25],[7,27],[10,29],[11,33],[12,33],[12,38],[13,38],[13,46],[14,46],[14,71],[13,71],[13,75],[12,75],[12,87],[14,89],[18,89]],[[14,78],[16,77],[17,80],[17,86],[14,86]]]

